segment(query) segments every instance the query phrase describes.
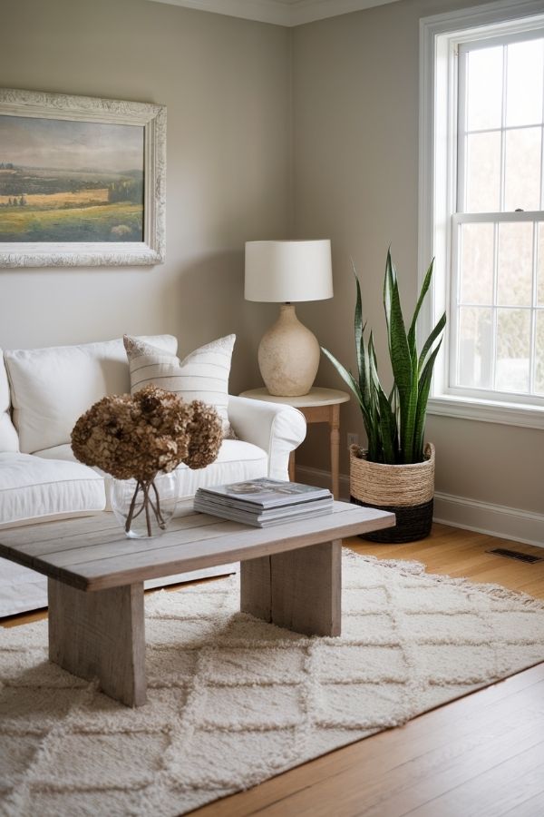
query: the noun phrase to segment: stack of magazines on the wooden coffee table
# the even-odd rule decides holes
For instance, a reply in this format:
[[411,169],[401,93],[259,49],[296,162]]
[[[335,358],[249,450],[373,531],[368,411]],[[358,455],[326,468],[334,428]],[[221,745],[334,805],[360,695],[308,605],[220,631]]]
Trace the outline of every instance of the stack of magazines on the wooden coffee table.
[[247,482],[199,488],[194,508],[233,522],[270,527],[330,514],[333,495],[326,488],[260,477]]

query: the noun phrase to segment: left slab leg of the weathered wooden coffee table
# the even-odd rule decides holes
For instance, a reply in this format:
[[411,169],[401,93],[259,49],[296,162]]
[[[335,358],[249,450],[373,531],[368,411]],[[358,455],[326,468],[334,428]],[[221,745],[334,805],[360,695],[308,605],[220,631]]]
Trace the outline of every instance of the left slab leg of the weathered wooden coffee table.
[[50,578],[48,597],[50,661],[98,677],[121,704],[145,704],[143,583],[85,593]]

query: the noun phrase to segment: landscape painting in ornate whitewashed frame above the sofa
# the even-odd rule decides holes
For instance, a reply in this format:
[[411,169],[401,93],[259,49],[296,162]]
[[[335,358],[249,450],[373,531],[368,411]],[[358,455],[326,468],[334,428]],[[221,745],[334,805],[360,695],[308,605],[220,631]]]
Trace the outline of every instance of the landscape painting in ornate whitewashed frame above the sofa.
[[156,264],[166,109],[0,89],[0,267]]

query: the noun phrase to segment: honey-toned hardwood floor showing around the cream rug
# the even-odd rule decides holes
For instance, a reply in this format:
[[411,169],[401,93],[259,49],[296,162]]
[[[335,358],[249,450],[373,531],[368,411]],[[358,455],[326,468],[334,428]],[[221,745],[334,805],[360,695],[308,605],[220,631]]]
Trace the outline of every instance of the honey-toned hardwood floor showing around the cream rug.
[[[544,598],[544,550],[436,525],[411,545],[345,545]],[[19,625],[42,614],[15,616]],[[544,655],[543,655],[544,658]],[[193,817],[544,817],[544,663],[214,802]]]

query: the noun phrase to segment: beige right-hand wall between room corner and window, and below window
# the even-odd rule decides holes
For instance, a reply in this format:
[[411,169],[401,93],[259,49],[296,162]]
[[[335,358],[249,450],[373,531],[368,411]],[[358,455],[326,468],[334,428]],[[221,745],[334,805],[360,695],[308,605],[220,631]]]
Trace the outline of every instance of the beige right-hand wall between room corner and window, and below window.
[[[388,245],[407,310],[417,290],[419,19],[473,5],[403,0],[294,31],[294,194],[297,237],[333,242],[335,298],[299,310],[322,345],[355,364],[354,281],[364,314],[377,328],[386,362],[382,283]],[[384,366],[385,368],[385,366]],[[322,360],[318,380],[342,388]],[[348,473],[345,433],[363,436],[353,401],[342,407],[341,471]],[[544,511],[544,434],[431,417],[437,448],[436,488],[481,502]],[[310,429],[298,462],[328,468],[323,428]]]

